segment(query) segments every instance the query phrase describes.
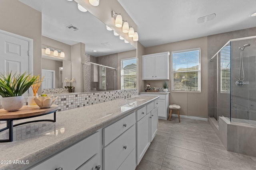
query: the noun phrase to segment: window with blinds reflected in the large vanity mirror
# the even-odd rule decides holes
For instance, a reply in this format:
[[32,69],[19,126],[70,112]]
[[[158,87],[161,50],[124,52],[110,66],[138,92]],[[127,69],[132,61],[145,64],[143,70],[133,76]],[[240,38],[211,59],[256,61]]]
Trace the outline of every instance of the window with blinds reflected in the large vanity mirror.
[[121,60],[121,89],[136,89],[137,58]]

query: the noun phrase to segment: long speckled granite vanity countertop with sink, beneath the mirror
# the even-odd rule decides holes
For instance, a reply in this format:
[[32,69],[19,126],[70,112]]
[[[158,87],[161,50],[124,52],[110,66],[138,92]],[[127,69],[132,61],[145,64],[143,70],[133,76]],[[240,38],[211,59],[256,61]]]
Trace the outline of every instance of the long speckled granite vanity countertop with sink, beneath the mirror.
[[[137,97],[137,99],[136,99]],[[144,100],[142,100],[142,98]],[[37,122],[14,127],[14,141],[0,143],[1,170],[20,170],[44,160],[45,158],[84,139],[98,129],[114,123],[136,109],[156,100],[158,96],[134,96],[90,106],[78,107],[56,112],[56,122]],[[14,121],[53,119],[53,114]],[[6,123],[0,124],[0,129]],[[0,139],[8,138],[8,130],[0,132]],[[13,164],[23,160],[24,164]],[[26,161],[29,164],[26,164]]]

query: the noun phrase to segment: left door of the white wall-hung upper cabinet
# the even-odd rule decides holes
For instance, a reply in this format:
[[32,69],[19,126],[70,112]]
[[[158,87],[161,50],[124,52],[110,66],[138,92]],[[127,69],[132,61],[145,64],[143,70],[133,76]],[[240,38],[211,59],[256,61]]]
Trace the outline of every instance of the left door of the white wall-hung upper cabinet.
[[154,56],[142,58],[142,80],[154,79]]

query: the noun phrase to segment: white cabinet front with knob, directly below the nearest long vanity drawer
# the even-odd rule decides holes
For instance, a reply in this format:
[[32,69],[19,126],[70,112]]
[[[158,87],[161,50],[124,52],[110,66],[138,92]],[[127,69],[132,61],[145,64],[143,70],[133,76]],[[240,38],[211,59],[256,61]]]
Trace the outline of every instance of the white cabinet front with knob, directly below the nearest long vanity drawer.
[[102,170],[99,154],[92,156],[92,158],[90,158],[76,170]]

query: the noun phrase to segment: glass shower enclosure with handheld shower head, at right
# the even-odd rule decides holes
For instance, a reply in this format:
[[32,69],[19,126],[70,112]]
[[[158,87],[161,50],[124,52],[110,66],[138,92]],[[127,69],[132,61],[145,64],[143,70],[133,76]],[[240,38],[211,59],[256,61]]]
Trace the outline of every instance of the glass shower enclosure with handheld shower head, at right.
[[218,120],[256,125],[256,36],[231,39],[211,59]]

